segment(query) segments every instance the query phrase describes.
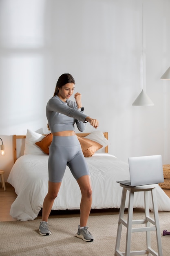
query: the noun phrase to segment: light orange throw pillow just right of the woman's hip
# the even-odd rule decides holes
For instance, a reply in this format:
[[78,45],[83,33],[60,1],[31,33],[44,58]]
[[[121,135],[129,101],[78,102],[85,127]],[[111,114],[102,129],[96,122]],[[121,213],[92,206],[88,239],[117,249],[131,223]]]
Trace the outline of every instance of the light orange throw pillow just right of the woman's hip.
[[92,157],[94,153],[102,148],[102,145],[91,139],[77,136],[85,157]]

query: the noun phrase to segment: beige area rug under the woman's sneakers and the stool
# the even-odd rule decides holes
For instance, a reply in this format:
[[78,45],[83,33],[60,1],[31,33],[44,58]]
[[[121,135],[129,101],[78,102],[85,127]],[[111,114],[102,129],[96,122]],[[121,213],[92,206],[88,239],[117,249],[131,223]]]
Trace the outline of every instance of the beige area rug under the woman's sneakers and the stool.
[[[151,213],[151,216],[152,213]],[[26,222],[0,222],[1,256],[111,256],[114,255],[117,234],[117,215],[91,216],[89,230],[95,236],[94,242],[84,242],[75,237],[79,218],[49,219],[50,236],[40,236],[40,220]],[[144,213],[135,213],[134,219],[143,219]],[[170,213],[159,213],[163,256],[170,256],[170,236],[163,236],[164,229],[170,231]],[[141,226],[140,226],[141,227]],[[122,230],[121,251],[125,250],[126,228]],[[146,249],[145,232],[132,233],[131,250]],[[151,232],[152,248],[157,251],[155,231]]]

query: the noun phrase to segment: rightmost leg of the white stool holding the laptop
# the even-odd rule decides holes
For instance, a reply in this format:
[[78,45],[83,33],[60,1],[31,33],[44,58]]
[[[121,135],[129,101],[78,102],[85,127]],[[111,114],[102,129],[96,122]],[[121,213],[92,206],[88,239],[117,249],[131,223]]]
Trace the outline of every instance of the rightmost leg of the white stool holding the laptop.
[[152,189],[152,203],[153,203],[153,212],[155,218],[155,226],[156,226],[156,235],[157,235],[157,247],[158,247],[158,255],[162,256],[162,245],[161,245],[161,233],[159,227],[159,215],[158,215],[158,206],[157,206],[157,195],[156,188]]

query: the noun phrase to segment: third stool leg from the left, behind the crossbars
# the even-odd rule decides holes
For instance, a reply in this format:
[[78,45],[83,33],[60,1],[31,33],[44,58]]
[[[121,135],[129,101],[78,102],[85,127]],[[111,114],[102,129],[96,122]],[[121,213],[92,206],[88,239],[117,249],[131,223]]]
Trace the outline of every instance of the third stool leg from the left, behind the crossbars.
[[[144,191],[146,227],[150,227],[150,222],[147,221],[147,217],[150,217],[150,212],[149,212],[149,200],[148,200],[148,198],[149,198],[149,192],[150,192],[150,191]],[[148,250],[148,247],[151,247],[150,231],[146,231],[146,246],[147,246],[147,250]]]

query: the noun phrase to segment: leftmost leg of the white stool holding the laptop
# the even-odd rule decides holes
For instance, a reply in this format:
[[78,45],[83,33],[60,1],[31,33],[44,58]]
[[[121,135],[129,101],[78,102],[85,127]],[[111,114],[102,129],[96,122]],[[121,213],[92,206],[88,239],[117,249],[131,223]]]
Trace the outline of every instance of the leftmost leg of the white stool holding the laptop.
[[124,218],[126,192],[127,192],[127,190],[123,188],[122,194],[121,194],[121,205],[120,205],[120,210],[119,210],[119,221],[118,221],[118,227],[117,227],[117,237],[116,237],[116,245],[115,245],[115,256],[117,255],[117,251],[120,248],[121,230],[122,230],[122,223],[120,221],[121,221],[122,218]]

